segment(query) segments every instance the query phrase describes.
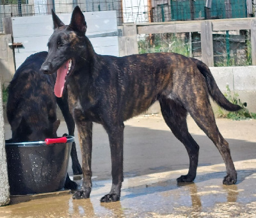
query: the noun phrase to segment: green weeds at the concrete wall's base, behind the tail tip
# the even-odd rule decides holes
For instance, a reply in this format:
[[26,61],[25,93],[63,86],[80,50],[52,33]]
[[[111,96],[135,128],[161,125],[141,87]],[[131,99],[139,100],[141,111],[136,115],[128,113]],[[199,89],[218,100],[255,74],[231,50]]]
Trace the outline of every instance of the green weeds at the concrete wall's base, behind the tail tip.
[[256,119],[256,113],[250,113],[248,111],[248,109],[246,108],[247,104],[241,102],[241,100],[239,99],[239,95],[237,93],[234,93],[232,95],[231,90],[228,85],[226,86],[226,88],[227,88],[227,93],[224,94],[225,97],[233,104],[240,105],[242,107],[242,109],[239,111],[230,112],[230,111],[225,111],[224,109],[219,107],[218,116],[220,118],[228,118],[228,119],[232,119],[232,120]]

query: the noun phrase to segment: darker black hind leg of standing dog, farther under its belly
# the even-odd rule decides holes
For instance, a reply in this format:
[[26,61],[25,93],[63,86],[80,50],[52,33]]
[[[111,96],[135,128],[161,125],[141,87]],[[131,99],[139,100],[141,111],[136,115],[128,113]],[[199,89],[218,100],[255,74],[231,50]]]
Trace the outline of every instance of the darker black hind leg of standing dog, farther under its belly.
[[188,175],[180,176],[177,178],[177,182],[193,182],[196,177],[199,146],[188,132],[187,111],[180,104],[168,98],[160,98],[159,103],[164,121],[172,130],[174,136],[184,144],[189,155]]

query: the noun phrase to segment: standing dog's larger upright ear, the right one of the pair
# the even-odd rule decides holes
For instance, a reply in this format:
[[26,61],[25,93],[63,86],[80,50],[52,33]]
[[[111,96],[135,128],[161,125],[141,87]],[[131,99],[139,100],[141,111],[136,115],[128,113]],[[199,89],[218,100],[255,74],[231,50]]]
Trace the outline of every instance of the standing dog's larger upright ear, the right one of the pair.
[[84,15],[81,12],[79,6],[76,6],[76,8],[74,8],[73,10],[69,26],[74,31],[85,34],[87,26],[84,19]]

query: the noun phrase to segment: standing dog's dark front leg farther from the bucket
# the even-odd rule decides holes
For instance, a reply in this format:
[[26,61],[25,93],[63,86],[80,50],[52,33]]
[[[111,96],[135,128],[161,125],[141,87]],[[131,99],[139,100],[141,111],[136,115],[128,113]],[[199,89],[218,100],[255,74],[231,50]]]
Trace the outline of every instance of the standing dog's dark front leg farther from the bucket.
[[124,123],[115,127],[106,128],[109,136],[112,164],[112,187],[109,194],[100,199],[100,202],[119,201],[123,176],[123,152],[124,152]]

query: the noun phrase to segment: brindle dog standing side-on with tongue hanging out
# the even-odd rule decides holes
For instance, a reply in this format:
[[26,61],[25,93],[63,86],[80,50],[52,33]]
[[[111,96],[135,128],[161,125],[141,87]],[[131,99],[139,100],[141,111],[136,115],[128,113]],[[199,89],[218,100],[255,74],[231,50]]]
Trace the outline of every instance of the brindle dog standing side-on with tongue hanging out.
[[209,95],[229,111],[241,109],[221,94],[209,68],[201,61],[175,53],[135,54],[117,58],[96,54],[85,36],[86,22],[78,6],[65,26],[52,12],[54,33],[48,42],[48,56],[41,67],[45,74],[57,71],[54,93],[61,97],[67,85],[68,103],[77,124],[83,156],[83,185],[73,198],[89,198],[92,188],[92,123],[108,132],[111,149],[112,187],[100,201],[118,201],[123,176],[124,121],[159,100],[166,124],[184,144],[189,155],[188,175],[178,182],[192,182],[196,176],[199,146],[188,132],[187,114],[213,141],[223,157],[227,176],[234,184],[237,173],[228,143],[216,126]]

